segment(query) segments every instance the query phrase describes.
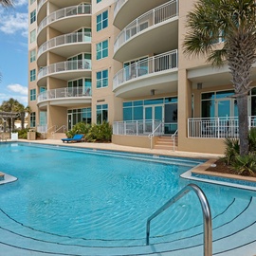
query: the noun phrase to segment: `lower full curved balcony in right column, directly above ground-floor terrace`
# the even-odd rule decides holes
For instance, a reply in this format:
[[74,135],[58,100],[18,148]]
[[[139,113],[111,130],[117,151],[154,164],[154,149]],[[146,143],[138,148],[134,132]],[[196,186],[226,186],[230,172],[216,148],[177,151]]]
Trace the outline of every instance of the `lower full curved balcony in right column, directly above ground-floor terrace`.
[[130,98],[176,91],[177,50],[144,59],[119,70],[113,79],[116,96]]

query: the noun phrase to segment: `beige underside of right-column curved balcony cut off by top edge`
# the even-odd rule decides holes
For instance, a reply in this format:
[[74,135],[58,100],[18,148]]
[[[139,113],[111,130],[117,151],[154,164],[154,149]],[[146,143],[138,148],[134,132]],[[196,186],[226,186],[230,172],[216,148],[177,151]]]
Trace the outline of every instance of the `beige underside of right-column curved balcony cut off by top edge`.
[[114,26],[122,29],[146,11],[163,5],[168,1],[170,0],[117,0],[114,9]]

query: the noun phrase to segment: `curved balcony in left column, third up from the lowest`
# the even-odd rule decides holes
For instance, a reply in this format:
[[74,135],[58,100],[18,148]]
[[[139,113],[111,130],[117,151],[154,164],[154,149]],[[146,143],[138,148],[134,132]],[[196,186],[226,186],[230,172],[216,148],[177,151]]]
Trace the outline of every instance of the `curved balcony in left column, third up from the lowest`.
[[39,47],[37,64],[39,66],[46,64],[46,56],[42,55],[48,50],[65,58],[78,52],[91,52],[91,38],[91,32],[70,33],[52,38]]

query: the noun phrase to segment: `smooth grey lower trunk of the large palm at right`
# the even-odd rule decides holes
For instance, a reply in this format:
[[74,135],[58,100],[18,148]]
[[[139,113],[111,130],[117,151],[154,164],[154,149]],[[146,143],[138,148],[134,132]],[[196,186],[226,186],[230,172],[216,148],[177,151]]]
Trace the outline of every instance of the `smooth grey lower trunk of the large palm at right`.
[[247,115],[247,95],[237,97],[238,119],[239,119],[239,139],[240,155],[248,153],[248,115]]

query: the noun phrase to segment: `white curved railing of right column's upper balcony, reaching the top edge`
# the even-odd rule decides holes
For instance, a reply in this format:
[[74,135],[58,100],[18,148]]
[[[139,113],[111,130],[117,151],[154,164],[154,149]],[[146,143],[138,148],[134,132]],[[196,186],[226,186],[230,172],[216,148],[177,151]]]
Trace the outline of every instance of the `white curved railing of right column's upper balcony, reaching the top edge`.
[[148,27],[153,27],[159,23],[165,22],[166,20],[172,19],[177,15],[178,0],[170,1],[160,7],[144,13],[120,31],[119,36],[115,41],[114,53],[120,46],[125,44],[132,37],[136,36],[137,33]]

